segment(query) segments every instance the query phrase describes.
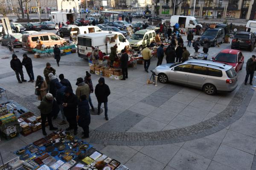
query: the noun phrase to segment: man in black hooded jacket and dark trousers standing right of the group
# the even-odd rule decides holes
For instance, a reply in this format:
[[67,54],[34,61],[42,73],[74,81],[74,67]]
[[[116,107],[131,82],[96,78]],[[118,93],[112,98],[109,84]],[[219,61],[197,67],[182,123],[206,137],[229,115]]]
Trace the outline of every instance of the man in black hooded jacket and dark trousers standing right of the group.
[[98,115],[100,114],[100,108],[104,103],[105,119],[108,120],[108,96],[110,95],[110,89],[105,84],[104,77],[99,78],[99,84],[95,87],[95,96],[98,100]]

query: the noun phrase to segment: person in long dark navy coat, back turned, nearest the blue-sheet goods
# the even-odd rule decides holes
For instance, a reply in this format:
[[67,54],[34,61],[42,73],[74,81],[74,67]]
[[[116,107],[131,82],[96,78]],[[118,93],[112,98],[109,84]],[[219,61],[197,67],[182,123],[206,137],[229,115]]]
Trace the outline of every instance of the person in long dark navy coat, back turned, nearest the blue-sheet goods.
[[78,125],[83,128],[82,139],[89,138],[89,125],[90,125],[90,113],[89,113],[89,103],[86,99],[86,95],[80,97],[80,102],[78,103]]

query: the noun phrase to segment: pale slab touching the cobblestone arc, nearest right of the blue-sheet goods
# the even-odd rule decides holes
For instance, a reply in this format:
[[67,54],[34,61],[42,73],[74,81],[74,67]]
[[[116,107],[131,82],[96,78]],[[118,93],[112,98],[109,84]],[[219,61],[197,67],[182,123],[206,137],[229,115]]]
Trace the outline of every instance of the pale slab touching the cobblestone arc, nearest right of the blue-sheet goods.
[[173,156],[177,153],[180,147],[174,144],[163,144],[163,145],[155,145],[155,146],[145,146],[140,152],[144,153],[151,158],[156,159],[164,164],[168,164],[168,162],[172,159]]

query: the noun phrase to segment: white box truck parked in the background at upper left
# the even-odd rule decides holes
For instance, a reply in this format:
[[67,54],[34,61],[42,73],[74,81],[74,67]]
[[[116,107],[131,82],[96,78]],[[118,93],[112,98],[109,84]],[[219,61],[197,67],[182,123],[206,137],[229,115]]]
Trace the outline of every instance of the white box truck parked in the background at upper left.
[[52,22],[54,23],[67,23],[67,20],[70,21],[70,23],[75,22],[76,20],[76,14],[75,13],[69,13],[69,12],[51,12]]

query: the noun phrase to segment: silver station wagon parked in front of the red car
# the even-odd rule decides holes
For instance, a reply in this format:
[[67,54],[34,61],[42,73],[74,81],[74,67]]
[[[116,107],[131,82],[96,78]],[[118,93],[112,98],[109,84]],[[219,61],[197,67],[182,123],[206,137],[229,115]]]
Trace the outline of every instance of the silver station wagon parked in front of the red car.
[[154,69],[162,83],[174,82],[202,89],[206,94],[231,92],[238,85],[232,65],[209,60],[190,59],[183,63],[159,65]]

